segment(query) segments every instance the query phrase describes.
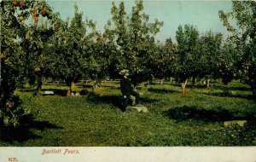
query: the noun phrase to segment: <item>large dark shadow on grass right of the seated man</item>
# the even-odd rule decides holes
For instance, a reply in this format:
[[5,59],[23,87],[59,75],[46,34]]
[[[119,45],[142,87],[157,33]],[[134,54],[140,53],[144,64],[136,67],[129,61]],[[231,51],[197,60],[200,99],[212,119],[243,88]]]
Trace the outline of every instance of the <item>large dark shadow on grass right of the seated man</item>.
[[177,119],[177,121],[197,119],[206,122],[221,122],[227,120],[240,120],[246,117],[235,117],[228,110],[222,107],[216,107],[214,110],[207,110],[201,107],[187,107],[179,106],[173,109],[167,110],[163,113],[170,119]]

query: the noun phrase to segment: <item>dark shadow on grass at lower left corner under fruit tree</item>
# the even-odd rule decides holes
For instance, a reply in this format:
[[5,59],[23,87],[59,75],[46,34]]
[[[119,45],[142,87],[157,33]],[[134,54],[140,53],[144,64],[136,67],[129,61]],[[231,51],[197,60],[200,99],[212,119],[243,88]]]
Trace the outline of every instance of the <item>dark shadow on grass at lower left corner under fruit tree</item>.
[[51,124],[48,121],[36,121],[32,115],[26,116],[20,123],[22,124],[15,128],[7,128],[0,125],[0,140],[9,143],[20,143],[43,137],[34,134],[32,130],[63,129],[63,127]]

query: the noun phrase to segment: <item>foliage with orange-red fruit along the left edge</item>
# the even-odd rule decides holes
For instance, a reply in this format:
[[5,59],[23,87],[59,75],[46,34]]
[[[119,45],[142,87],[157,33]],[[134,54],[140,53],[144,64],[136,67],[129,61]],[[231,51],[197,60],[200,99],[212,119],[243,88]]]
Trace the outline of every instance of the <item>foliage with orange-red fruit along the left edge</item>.
[[[25,115],[25,108],[13,94],[14,90],[25,78],[32,78],[31,69],[35,68],[38,52],[42,49],[41,38],[44,37],[41,34],[38,37],[38,30],[33,26],[37,26],[39,18],[54,19],[55,15],[44,1],[15,0],[1,1],[0,14],[0,123],[12,127],[19,125]],[[31,15],[34,25],[27,23]]]

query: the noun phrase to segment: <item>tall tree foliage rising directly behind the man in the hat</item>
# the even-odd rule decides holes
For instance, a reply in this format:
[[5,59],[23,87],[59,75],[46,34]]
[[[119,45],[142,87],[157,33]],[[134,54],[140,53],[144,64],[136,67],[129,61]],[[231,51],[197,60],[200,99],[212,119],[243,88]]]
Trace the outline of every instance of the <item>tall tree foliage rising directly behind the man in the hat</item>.
[[154,36],[160,32],[163,22],[155,20],[148,23],[149,16],[143,12],[143,1],[136,1],[131,9],[131,16],[126,15],[125,3],[119,3],[119,8],[112,3],[112,20],[108,28],[113,28],[113,37],[119,52],[114,54],[117,61],[113,67],[117,70],[129,69],[134,84],[141,83],[150,76],[148,59],[154,55]]

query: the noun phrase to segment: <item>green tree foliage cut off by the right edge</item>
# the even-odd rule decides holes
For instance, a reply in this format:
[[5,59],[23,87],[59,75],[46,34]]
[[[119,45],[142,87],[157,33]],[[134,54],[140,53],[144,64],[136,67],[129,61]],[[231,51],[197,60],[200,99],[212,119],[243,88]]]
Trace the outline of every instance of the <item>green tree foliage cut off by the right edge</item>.
[[[230,42],[235,44],[236,65],[242,77],[249,78],[253,95],[256,94],[256,75],[255,75],[255,36],[256,36],[256,3],[254,1],[233,1],[233,10],[230,13],[219,11],[219,17],[223,21],[227,30],[232,33]],[[231,26],[229,20],[235,19],[236,26]]]

